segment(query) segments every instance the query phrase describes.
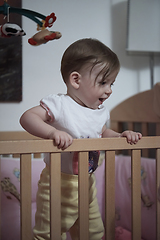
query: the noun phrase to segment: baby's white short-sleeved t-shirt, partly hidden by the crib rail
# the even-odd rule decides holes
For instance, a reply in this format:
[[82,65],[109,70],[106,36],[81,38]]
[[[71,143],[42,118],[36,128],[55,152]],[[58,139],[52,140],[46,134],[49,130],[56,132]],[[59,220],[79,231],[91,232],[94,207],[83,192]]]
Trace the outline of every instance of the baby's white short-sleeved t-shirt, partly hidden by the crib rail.
[[[83,107],[71,97],[64,94],[51,94],[41,100],[41,106],[50,116],[50,125],[65,131],[75,138],[100,138],[102,128],[109,119],[109,111],[104,105],[99,109]],[[73,154],[62,153],[61,170],[68,174],[73,172]],[[49,158],[45,158],[49,164]]]

